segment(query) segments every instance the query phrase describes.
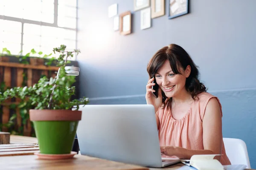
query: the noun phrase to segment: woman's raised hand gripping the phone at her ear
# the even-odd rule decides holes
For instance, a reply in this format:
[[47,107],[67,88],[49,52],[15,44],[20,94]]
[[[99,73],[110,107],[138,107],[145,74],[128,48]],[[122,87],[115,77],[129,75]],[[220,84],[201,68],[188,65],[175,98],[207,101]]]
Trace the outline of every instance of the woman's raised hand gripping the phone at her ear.
[[146,101],[148,105],[153,105],[155,108],[155,112],[157,112],[158,108],[160,108],[160,106],[162,105],[162,91],[161,91],[161,88],[159,87],[157,98],[152,94],[152,92],[155,92],[152,89],[152,86],[155,85],[155,83],[152,83],[153,80],[154,80],[154,77],[152,79],[149,79],[148,84],[146,85],[146,90],[147,90]]

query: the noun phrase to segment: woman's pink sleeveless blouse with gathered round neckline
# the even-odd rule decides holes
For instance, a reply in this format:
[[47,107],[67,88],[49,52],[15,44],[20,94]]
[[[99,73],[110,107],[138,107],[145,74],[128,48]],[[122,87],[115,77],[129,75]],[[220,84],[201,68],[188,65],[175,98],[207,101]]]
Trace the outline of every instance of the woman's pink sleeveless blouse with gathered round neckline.
[[[211,94],[203,92],[198,95],[199,100],[195,100],[186,113],[186,115],[180,119],[175,120],[172,117],[171,111],[168,108],[159,108],[156,113],[156,117],[159,119],[159,141],[160,145],[165,146],[177,146],[192,150],[203,150],[203,117],[207,103],[209,99],[213,98]],[[220,105],[221,103],[217,97],[215,97]],[[222,108],[221,108],[222,116]],[[221,164],[231,164],[228,159],[222,140],[221,150]]]

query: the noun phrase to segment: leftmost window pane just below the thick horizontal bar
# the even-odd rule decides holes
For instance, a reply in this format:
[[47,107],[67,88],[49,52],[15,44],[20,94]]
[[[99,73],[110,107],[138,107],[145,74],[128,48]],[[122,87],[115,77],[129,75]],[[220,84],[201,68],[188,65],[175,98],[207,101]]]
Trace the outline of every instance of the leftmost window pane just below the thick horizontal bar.
[[6,32],[21,33],[20,22],[3,20],[3,24],[0,27],[0,29]]

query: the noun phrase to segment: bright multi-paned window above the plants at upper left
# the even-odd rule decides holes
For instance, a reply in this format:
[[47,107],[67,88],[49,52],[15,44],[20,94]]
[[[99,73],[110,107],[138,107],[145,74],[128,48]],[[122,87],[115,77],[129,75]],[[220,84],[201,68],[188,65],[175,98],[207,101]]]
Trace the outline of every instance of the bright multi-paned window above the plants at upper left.
[[0,0],[0,50],[50,54],[61,44],[73,50],[76,22],[77,0]]

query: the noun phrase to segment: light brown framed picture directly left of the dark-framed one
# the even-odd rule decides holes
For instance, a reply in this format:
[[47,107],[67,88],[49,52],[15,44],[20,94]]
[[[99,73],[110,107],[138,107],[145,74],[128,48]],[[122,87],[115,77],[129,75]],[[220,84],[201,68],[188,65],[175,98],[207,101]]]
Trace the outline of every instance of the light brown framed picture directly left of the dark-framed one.
[[165,0],[151,0],[151,18],[164,15]]

